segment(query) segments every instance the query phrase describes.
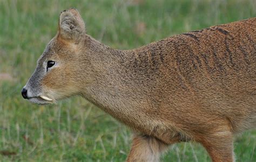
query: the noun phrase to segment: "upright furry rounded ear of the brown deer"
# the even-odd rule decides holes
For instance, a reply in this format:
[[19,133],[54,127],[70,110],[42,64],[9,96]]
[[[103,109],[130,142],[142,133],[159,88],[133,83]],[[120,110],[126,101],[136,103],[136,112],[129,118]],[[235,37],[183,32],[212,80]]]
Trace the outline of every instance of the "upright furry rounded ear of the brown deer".
[[64,10],[59,16],[59,36],[62,39],[79,43],[85,34],[85,25],[76,9]]

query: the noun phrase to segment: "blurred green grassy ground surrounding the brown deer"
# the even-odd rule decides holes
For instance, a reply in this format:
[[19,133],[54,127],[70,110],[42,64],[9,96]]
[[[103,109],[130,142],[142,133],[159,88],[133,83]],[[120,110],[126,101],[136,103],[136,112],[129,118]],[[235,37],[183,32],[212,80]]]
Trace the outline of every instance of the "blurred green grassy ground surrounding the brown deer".
[[[256,17],[254,0],[234,1],[33,1],[0,0],[0,160],[124,161],[131,131],[83,98],[39,106],[21,89],[60,11],[76,7],[87,33],[129,49],[173,34]],[[256,131],[235,140],[237,161],[256,161]],[[162,161],[210,161],[194,143],[173,145]]]

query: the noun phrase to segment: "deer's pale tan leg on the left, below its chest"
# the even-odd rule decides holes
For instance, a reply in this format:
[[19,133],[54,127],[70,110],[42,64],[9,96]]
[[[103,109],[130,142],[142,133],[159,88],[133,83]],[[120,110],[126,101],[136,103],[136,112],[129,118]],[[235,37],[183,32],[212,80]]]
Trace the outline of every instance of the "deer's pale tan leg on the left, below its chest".
[[157,162],[160,159],[160,154],[167,150],[167,146],[157,138],[136,135],[133,138],[127,162]]

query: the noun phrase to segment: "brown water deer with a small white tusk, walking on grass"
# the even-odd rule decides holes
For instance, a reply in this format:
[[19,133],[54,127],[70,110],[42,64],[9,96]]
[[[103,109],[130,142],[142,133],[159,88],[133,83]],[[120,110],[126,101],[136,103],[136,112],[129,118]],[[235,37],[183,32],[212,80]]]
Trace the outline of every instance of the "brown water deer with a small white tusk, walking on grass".
[[212,161],[234,161],[234,135],[256,127],[255,30],[251,18],[116,50],[89,36],[71,8],[22,96],[37,104],[83,96],[133,130],[127,161],[159,161],[190,141]]

